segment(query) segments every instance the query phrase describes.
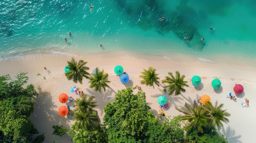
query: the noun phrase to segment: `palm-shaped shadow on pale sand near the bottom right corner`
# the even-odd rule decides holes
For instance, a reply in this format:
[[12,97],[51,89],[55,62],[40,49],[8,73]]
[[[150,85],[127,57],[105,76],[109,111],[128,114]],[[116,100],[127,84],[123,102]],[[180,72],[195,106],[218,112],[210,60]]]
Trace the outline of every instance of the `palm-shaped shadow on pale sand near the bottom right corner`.
[[232,130],[229,126],[227,127],[227,131],[222,127],[221,128],[222,133],[218,131],[219,134],[223,134],[229,143],[242,143],[242,141],[239,141],[239,138],[241,138],[241,135],[234,136],[235,130]]

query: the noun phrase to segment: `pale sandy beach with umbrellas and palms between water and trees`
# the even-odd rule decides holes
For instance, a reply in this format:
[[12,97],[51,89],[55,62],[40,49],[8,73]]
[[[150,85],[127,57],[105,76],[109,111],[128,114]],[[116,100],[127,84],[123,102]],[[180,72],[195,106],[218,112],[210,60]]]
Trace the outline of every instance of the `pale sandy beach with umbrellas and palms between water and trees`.
[[[106,92],[95,92],[94,89],[89,88],[88,79],[83,80],[83,84],[75,84],[73,81],[68,81],[64,74],[64,68],[67,65],[67,60],[70,60],[72,56],[61,54],[50,55],[30,55],[25,57],[8,59],[0,62],[1,67],[7,67],[1,69],[1,76],[10,74],[12,77],[18,72],[27,72],[29,81],[27,84],[34,84],[39,96],[36,98],[35,110],[31,114],[31,119],[35,127],[42,134],[45,134],[44,143],[52,143],[57,141],[58,143],[72,143],[70,141],[71,136],[65,134],[62,137],[52,135],[53,125],[63,125],[70,129],[74,123],[72,117],[61,117],[58,114],[58,108],[60,106],[70,105],[73,108],[73,102],[60,103],[58,96],[61,93],[73,97],[79,98],[75,93],[71,93],[70,88],[73,86],[81,87],[83,92],[87,95],[94,95],[97,101],[97,108],[101,122],[103,122],[104,112],[103,108],[106,103],[114,101],[115,94],[118,90],[126,87],[134,87],[136,85],[141,86],[141,90],[146,93],[146,101],[154,112],[155,116],[159,113],[159,104],[157,103],[157,97],[164,95],[162,92],[164,84],[160,86],[149,87],[140,84],[139,75],[143,69],[148,69],[152,66],[157,70],[159,74],[159,81],[168,75],[168,72],[175,73],[176,70],[180,71],[181,75],[185,75],[185,81],[188,81],[188,88],[186,92],[181,95],[165,94],[168,99],[169,108],[166,110],[167,116],[177,116],[181,114],[175,110],[175,107],[182,107],[185,102],[193,103],[193,100],[200,99],[200,96],[207,94],[211,97],[211,101],[215,103],[218,100],[219,103],[224,103],[223,109],[227,109],[227,112],[231,114],[229,123],[224,124],[224,127],[220,130],[220,134],[224,134],[229,143],[245,143],[248,139],[253,139],[253,131],[256,128],[254,124],[254,118],[256,113],[255,101],[256,101],[256,70],[241,64],[238,61],[232,61],[225,64],[217,64],[214,62],[202,62],[195,60],[190,63],[176,63],[161,56],[145,56],[145,55],[133,55],[133,57],[115,57],[108,55],[108,53],[95,54],[95,55],[82,55],[80,57],[74,57],[76,60],[83,59],[88,62],[86,66],[90,67],[88,72],[96,67],[100,70],[104,69],[109,74],[108,80],[111,81]],[[97,57],[97,58],[96,58]],[[130,80],[127,84],[121,84],[119,77],[115,75],[114,68],[116,65],[124,67],[124,71],[129,75]],[[47,70],[43,68],[46,67]],[[39,76],[37,74],[40,73]],[[199,86],[193,86],[191,84],[191,78],[193,75],[199,75],[202,79],[202,83]],[[213,89],[211,81],[215,78],[220,79],[222,85],[219,89]],[[229,92],[234,93],[235,84],[241,84],[244,87],[244,92],[241,95],[235,95],[237,101],[227,99],[226,95]],[[134,92],[137,92],[135,89]],[[108,98],[112,96],[113,98]],[[249,99],[250,107],[242,107],[241,101],[245,98]]]

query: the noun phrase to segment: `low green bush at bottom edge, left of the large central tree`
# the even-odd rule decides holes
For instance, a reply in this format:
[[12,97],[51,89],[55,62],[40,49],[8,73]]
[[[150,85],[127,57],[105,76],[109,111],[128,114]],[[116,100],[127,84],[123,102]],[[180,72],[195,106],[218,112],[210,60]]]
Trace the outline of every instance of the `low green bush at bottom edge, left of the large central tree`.
[[97,124],[97,127],[92,130],[81,128],[79,132],[76,132],[74,125],[71,128],[69,134],[74,136],[74,143],[108,143],[108,134],[104,125]]

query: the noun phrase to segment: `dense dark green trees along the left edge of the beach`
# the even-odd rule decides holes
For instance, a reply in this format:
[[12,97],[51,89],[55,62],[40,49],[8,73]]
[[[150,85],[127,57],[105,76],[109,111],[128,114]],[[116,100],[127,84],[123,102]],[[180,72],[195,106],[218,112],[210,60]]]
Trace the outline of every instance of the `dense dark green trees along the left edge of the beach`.
[[32,137],[38,131],[29,116],[38,93],[32,84],[24,88],[27,81],[26,73],[17,74],[15,80],[9,75],[0,77],[1,143],[41,143],[45,139],[43,134]]

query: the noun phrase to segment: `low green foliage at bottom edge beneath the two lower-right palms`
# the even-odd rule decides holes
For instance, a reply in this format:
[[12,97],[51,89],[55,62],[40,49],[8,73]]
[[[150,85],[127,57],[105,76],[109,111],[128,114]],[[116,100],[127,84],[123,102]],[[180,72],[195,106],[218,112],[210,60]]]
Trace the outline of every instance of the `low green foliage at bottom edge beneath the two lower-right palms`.
[[189,129],[186,133],[187,143],[227,143],[224,135],[220,136],[214,126],[204,130],[203,133],[198,132],[196,127]]

